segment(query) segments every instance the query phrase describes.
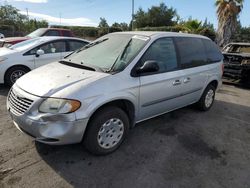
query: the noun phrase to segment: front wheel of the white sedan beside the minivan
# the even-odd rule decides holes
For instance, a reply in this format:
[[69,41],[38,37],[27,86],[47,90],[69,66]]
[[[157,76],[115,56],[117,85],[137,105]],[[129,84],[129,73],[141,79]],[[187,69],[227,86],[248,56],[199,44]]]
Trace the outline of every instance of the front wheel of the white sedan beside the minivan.
[[12,67],[6,71],[4,76],[4,83],[7,86],[12,86],[17,79],[22,77],[24,74],[29,72],[30,70],[23,66]]

